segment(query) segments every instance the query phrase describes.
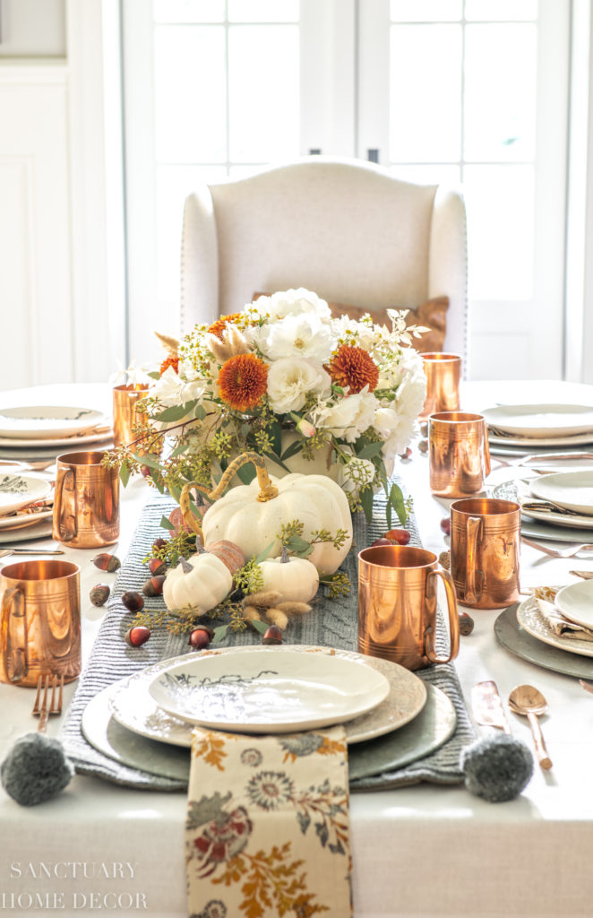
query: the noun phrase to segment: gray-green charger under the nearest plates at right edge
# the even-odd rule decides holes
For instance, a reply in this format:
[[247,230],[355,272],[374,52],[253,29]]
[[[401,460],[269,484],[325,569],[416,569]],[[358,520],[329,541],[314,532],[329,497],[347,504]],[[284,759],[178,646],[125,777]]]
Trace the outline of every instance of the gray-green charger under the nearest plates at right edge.
[[517,621],[516,602],[500,613],[494,622],[494,633],[498,644],[506,647],[511,654],[529,660],[543,669],[551,669],[554,673],[563,676],[573,676],[579,679],[593,679],[593,659],[588,656],[570,654],[550,644],[543,644],[537,638],[531,637]]

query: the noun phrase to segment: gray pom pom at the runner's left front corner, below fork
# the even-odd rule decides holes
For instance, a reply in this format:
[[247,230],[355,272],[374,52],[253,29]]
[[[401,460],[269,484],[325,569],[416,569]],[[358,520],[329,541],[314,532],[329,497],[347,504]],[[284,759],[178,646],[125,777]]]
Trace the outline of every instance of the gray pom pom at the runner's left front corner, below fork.
[[21,806],[35,806],[55,797],[73,774],[62,744],[44,733],[21,736],[0,766],[2,786]]

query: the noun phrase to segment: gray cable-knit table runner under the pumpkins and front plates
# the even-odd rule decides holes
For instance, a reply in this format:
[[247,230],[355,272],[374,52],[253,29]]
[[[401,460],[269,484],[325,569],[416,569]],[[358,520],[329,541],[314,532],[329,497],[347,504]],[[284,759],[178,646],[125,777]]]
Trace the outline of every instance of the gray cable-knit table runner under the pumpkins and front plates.
[[[98,752],[87,743],[81,732],[84,708],[94,696],[106,689],[117,679],[151,666],[162,659],[184,654],[187,638],[166,632],[155,631],[151,640],[140,648],[129,647],[124,635],[133,624],[134,616],[121,602],[121,594],[127,589],[140,590],[149,576],[142,559],[150,554],[151,544],[162,535],[162,515],[168,515],[173,506],[172,498],[155,494],[142,510],[139,526],[134,534],[129,554],[117,576],[112,597],[101,623],[95,645],[87,666],[73,697],[72,704],[62,726],[62,741],[66,752],[80,774],[95,775],[127,787],[145,790],[185,790],[185,783],[171,778],[150,775],[139,769],[123,766]],[[408,519],[410,543],[420,545],[415,518]],[[352,583],[352,593],[340,599],[322,599],[323,608],[308,616],[291,621],[286,633],[287,644],[320,644],[356,650],[357,647],[357,576],[356,554],[361,547],[374,541],[386,531],[385,499],[375,498],[374,517],[367,526],[364,516],[354,519],[354,546],[348,554],[343,569]],[[164,609],[162,597],[150,600],[150,607]],[[233,633],[220,644],[259,644],[260,638],[252,632]],[[444,623],[439,621],[436,644],[440,653],[446,652],[447,635]],[[453,664],[430,666],[418,671],[418,676],[445,692],[452,700],[457,713],[457,728],[453,737],[431,755],[393,772],[384,772],[372,778],[360,778],[351,782],[352,790],[382,790],[431,781],[438,784],[456,784],[463,780],[459,768],[459,756],[464,746],[474,738],[464,705],[463,694]],[[371,741],[372,742],[372,741]]]

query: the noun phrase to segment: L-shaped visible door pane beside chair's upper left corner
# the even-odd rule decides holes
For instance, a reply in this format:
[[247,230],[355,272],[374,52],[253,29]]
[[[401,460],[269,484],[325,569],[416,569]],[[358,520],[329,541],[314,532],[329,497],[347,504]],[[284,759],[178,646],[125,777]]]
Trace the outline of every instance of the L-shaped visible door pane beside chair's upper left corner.
[[225,173],[224,166],[157,167],[157,287],[161,303],[179,307],[179,259],[185,198],[198,185],[222,181]]

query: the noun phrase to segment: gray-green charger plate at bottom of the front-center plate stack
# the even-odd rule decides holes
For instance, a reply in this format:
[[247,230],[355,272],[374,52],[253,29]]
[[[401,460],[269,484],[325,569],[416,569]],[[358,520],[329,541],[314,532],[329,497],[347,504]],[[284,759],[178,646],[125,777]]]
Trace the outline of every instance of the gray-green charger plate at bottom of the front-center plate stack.
[[[457,723],[453,703],[441,689],[429,683],[426,689],[426,704],[413,721],[393,733],[348,747],[350,778],[367,778],[404,767],[430,755],[451,738]],[[87,742],[121,765],[187,781],[189,750],[147,739],[119,724],[109,710],[114,690],[117,684],[103,689],[84,709],[81,726]]]

